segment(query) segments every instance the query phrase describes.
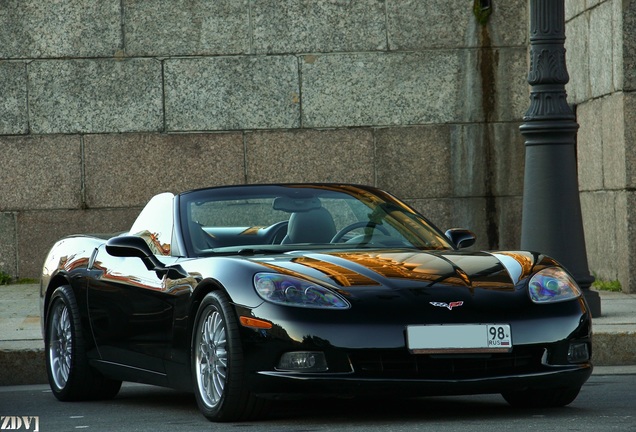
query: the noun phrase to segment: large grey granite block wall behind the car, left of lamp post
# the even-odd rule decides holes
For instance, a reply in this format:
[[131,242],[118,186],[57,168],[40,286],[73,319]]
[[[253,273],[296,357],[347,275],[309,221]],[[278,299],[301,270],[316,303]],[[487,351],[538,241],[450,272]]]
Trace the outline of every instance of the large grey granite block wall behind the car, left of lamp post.
[[518,247],[527,1],[23,0],[0,8],[0,271],[152,195],[377,185]]

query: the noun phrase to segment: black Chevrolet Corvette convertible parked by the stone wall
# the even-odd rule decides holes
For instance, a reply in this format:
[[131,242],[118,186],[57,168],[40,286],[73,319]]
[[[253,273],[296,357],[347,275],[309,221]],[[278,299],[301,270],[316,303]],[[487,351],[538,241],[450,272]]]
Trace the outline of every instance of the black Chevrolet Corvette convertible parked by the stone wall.
[[569,404],[592,372],[580,289],[545,255],[462,251],[474,242],[367,186],[157,195],[130,231],[48,254],[53,394],[112,398],[143,382],[194,391],[214,421],[309,395]]

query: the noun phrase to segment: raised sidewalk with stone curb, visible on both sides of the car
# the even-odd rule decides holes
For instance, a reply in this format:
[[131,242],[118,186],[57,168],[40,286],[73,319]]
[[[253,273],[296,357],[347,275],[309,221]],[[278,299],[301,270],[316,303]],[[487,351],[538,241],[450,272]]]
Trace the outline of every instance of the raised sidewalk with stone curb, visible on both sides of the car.
[[[636,373],[636,294],[599,293],[602,316],[593,322],[595,371]],[[39,304],[39,285],[0,285],[0,386],[47,382]]]

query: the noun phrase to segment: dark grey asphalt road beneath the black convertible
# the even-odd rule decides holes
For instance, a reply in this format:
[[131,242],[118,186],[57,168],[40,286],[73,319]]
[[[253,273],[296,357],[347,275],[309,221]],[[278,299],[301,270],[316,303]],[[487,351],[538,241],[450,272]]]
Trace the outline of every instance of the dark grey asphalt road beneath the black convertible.
[[111,401],[82,403],[58,402],[47,386],[0,387],[0,431],[36,430],[36,419],[42,432],[636,431],[635,389],[636,375],[593,375],[560,409],[512,409],[498,395],[307,400],[280,402],[258,422],[216,424],[199,414],[191,394],[156,387],[125,384]]

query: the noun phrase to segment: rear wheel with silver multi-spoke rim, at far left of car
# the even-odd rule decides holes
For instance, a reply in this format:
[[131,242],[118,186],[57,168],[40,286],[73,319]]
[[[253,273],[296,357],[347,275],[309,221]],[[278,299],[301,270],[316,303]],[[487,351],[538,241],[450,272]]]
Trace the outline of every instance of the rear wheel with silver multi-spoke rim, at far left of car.
[[104,377],[88,364],[79,308],[69,286],[61,286],[51,295],[44,351],[49,385],[57,399],[110,399],[119,392],[121,381]]

